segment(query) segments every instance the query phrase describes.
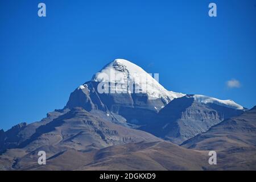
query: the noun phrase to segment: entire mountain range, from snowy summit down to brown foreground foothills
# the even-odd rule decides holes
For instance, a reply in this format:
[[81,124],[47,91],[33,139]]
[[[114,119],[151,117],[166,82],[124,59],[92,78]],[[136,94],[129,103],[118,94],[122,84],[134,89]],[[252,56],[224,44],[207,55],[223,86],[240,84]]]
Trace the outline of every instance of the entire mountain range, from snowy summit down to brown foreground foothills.
[[[0,169],[256,169],[256,107],[168,91],[156,80],[130,61],[112,61],[63,109],[0,130]],[[210,150],[217,165],[208,163]]]

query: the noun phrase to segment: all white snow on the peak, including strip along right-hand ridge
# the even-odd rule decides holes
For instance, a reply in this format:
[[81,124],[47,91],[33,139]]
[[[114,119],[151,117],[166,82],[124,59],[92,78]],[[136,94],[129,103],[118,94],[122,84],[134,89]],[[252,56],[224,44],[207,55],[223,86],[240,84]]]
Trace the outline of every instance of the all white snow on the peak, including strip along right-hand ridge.
[[[158,76],[158,74],[154,74],[154,76],[155,75]],[[160,98],[165,104],[168,104],[168,102],[174,100],[174,98],[185,96],[183,93],[166,90],[157,80],[158,79],[155,80],[151,74],[148,74],[138,65],[125,59],[115,59],[92,77],[92,81],[109,82],[108,89],[113,90],[114,88],[115,91],[121,93],[125,90],[127,91],[127,88],[127,93],[131,93],[129,87],[131,85],[138,85],[139,93],[147,93],[149,99]],[[80,89],[82,89],[81,86]],[[204,104],[213,103],[233,109],[244,109],[243,106],[232,100],[219,100],[217,98],[202,95],[187,95],[187,97],[193,97],[197,102]]]

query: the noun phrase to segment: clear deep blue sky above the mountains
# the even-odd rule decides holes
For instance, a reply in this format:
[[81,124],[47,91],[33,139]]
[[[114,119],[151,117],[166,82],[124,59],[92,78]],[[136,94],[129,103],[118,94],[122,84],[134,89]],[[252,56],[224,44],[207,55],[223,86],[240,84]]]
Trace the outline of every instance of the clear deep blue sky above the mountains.
[[1,0],[0,50],[4,130],[63,108],[115,58],[159,73],[168,90],[256,105],[256,1]]

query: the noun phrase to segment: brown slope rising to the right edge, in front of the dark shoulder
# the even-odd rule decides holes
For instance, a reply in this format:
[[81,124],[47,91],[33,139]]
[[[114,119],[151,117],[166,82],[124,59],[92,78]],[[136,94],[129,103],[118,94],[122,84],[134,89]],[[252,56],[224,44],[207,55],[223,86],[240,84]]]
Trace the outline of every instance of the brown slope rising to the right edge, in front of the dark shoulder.
[[238,117],[222,121],[207,132],[187,140],[182,145],[200,150],[256,146],[256,106]]

